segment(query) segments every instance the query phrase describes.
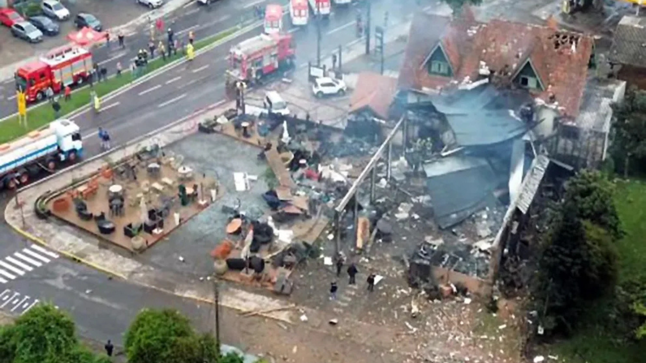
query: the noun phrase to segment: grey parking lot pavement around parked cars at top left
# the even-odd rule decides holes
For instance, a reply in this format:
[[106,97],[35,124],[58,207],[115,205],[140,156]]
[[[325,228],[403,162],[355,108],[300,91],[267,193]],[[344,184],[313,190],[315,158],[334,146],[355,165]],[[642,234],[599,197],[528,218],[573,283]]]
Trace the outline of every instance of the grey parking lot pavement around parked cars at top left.
[[70,20],[59,23],[60,33],[57,36],[45,36],[44,41],[41,43],[27,43],[24,40],[12,37],[10,29],[6,26],[0,27],[2,65],[22,61],[68,43],[67,35],[74,31],[73,19],[79,12],[88,12],[96,16],[103,23],[103,28],[109,29],[127,23],[131,19],[149,11],[145,6],[138,5],[132,0],[62,0],[61,3],[70,10]]

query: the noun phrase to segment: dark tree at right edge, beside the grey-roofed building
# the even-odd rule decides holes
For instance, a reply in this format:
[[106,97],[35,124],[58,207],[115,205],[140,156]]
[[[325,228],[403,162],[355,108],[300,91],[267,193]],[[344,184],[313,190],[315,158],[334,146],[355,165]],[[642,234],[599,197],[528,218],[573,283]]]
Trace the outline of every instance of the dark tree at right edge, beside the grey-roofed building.
[[630,88],[623,102],[612,109],[612,145],[616,156],[623,158],[623,176],[628,178],[630,159],[646,157],[646,93]]

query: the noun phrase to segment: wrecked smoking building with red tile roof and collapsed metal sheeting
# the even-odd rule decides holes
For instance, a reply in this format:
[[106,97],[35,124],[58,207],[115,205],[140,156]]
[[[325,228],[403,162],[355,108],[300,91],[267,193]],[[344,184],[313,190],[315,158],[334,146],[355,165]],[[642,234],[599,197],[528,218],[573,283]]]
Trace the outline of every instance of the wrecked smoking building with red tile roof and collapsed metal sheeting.
[[[410,175],[423,180],[426,215],[437,227],[410,255],[414,278],[434,275],[486,293],[503,252],[526,251],[531,233],[521,229],[530,224],[534,197],[554,197],[561,176],[599,167],[610,105],[623,99],[625,83],[589,76],[593,52],[590,36],[481,23],[468,8],[453,19],[416,14],[390,107],[382,101],[389,92],[380,92],[375,109],[382,117],[368,115],[390,115],[382,136],[393,114],[407,120],[406,161]],[[378,94],[375,82],[357,88]],[[422,156],[420,140],[428,140]]]

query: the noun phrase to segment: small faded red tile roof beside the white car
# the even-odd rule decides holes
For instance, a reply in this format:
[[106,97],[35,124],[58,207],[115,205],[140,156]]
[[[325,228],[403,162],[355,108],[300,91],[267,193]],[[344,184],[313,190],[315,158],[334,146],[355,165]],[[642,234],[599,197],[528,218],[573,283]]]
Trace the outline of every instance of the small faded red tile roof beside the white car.
[[372,72],[362,72],[350,98],[350,112],[369,109],[381,119],[388,119],[388,111],[397,92],[397,79]]

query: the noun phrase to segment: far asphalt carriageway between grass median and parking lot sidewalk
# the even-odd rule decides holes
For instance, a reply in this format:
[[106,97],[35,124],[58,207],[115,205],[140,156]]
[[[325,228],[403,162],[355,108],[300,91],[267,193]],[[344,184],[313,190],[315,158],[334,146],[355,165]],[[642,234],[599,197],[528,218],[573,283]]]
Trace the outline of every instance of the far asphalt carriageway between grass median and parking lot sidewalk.
[[[260,4],[266,0],[262,0]],[[172,28],[176,37],[188,37],[193,30],[196,39],[216,34],[227,28],[238,25],[242,19],[253,17],[253,4],[258,0],[224,0],[211,6],[199,6],[189,3],[186,8],[180,8],[177,14],[169,16],[165,26]],[[162,36],[164,41],[165,36]],[[109,70],[112,74],[116,63],[121,62],[123,68],[129,63],[141,48],[148,48],[150,28],[144,26],[135,34],[126,38],[125,49],[118,47],[116,36],[110,42],[110,47],[99,47],[92,51],[94,62]],[[13,81],[7,81],[0,90],[0,118],[5,118],[17,112],[16,93],[12,88]]]

